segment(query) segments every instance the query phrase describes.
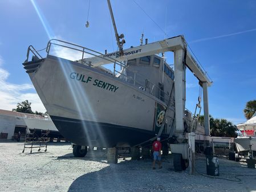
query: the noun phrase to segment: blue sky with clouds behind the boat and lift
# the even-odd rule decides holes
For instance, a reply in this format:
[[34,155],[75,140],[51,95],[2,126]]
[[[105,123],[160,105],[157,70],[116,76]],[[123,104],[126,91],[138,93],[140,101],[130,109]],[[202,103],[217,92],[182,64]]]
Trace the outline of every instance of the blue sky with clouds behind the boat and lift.
[[[247,101],[256,99],[256,1],[112,0],[111,3],[117,30],[125,35],[125,48],[138,46],[141,32],[149,42],[184,35],[214,81],[209,88],[210,114],[234,124],[245,121],[243,108]],[[11,110],[28,99],[33,111],[45,111],[22,67],[30,44],[40,50],[50,38],[58,38],[100,52],[116,50],[107,1],[91,1],[90,27],[86,28],[88,5],[88,0],[0,0],[1,109]],[[167,57],[171,64],[171,55]],[[200,91],[190,72],[186,80],[186,107],[194,111]]]

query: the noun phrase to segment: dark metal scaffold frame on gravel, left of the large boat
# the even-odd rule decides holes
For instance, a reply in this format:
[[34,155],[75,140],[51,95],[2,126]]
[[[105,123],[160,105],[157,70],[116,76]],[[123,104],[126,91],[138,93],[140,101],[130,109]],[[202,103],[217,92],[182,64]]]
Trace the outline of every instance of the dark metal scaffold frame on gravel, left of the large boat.
[[25,152],[26,148],[30,149],[30,153],[32,153],[33,148],[39,148],[38,152],[40,152],[41,148],[45,148],[44,152],[47,152],[47,143],[48,143],[48,134],[49,130],[30,130],[26,131],[24,148],[22,153]]

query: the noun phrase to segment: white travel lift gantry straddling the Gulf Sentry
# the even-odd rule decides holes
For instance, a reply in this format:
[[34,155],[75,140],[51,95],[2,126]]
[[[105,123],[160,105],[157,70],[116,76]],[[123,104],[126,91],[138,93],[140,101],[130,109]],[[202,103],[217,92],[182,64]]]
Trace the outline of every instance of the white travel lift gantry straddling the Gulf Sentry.
[[[170,144],[172,153],[174,155],[174,168],[176,170],[185,169],[185,161],[190,161],[190,173],[193,174],[193,154],[194,154],[194,137],[195,134],[192,130],[190,133],[184,133],[184,117],[185,117],[185,71],[186,67],[197,77],[199,84],[203,89],[204,101],[204,126],[206,146],[210,145],[210,125],[209,125],[209,108],[208,108],[208,87],[212,85],[209,77],[206,75],[196,60],[187,50],[187,44],[184,36],[176,36],[169,39],[160,40],[158,42],[144,44],[138,47],[128,48],[112,52],[107,55],[99,55],[92,58],[83,59],[82,63],[90,64],[94,67],[103,64],[109,64],[110,58],[119,62],[140,58],[147,55],[159,54],[161,52],[172,51],[174,52],[174,97],[175,97],[175,130],[174,135],[177,138],[177,144]],[[105,58],[109,58],[106,60]],[[180,158],[180,160],[177,160]]]

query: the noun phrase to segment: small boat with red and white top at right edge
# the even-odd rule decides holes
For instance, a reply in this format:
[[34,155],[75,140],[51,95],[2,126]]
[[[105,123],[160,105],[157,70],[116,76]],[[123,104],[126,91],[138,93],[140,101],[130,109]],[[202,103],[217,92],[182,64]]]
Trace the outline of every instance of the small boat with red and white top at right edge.
[[240,131],[238,133],[237,138],[234,139],[235,148],[237,149],[237,152],[247,153],[250,150],[256,152],[256,112],[251,117],[251,119],[247,120],[244,123],[238,124],[237,128]]

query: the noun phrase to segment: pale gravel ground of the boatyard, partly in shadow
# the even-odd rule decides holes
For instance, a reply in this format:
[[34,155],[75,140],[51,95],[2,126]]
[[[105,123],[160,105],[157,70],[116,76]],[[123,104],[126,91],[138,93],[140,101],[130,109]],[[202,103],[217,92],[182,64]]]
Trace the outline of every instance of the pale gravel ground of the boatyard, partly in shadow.
[[[219,159],[217,179],[202,175],[204,156],[197,156],[197,174],[189,175],[173,170],[172,155],[162,169],[152,170],[151,160],[107,164],[104,150],[75,158],[68,143],[49,144],[46,153],[22,150],[22,143],[0,142],[0,191],[256,191],[256,170],[225,158]],[[241,181],[235,175],[243,175]]]

